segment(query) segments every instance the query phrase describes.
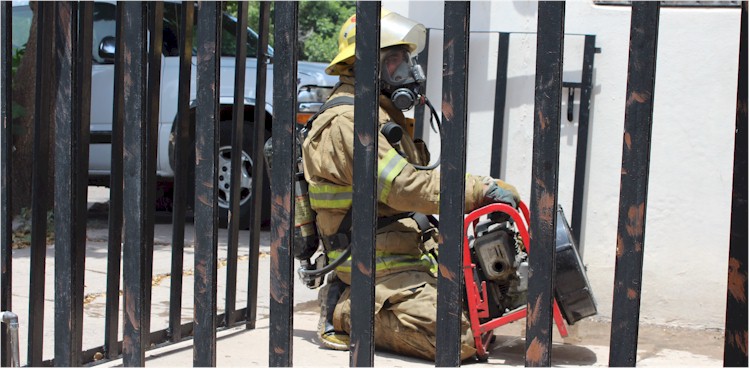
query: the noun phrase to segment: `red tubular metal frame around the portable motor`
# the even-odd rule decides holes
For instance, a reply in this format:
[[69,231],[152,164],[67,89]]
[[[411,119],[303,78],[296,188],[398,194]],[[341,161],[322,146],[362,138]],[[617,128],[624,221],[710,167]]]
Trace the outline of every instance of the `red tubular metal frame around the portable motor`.
[[[469,251],[469,237],[467,233],[470,226],[472,227],[472,230],[475,230],[475,227],[481,216],[494,212],[502,212],[508,214],[511,218],[513,218],[513,221],[516,224],[516,228],[518,229],[518,233],[521,235],[521,239],[523,240],[524,248],[526,248],[526,253],[529,253],[529,208],[525,203],[520,202],[518,204],[518,209],[520,211],[514,209],[510,205],[494,203],[472,211],[464,219],[463,267],[464,281],[466,283],[466,299],[469,307],[468,310],[469,321],[471,322],[471,331],[474,335],[474,343],[477,348],[477,356],[480,359],[485,359],[489,355],[487,348],[489,347],[489,344],[494,335],[493,330],[502,325],[525,318],[528,308],[524,307],[515,310],[507,315],[503,315],[484,323],[479,322],[480,318],[490,318],[489,308],[487,306],[487,289],[486,283],[482,282],[483,293],[480,294],[479,288],[477,287],[476,281],[474,280],[474,269],[476,268],[476,265],[471,262],[471,252]],[[523,215],[523,218],[521,217],[521,215]],[[565,321],[563,320],[562,313],[560,312],[560,307],[557,305],[557,300],[553,301],[552,310],[552,317],[555,321],[555,325],[557,325],[558,331],[560,332],[560,336],[567,337],[568,328],[565,325]]]

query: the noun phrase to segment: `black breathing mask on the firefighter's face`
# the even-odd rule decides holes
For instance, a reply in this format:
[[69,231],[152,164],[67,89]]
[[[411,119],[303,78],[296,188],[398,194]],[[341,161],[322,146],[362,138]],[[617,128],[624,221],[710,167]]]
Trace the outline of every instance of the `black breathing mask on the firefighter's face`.
[[425,76],[408,50],[396,47],[381,53],[380,80],[382,91],[391,98],[393,105],[406,111],[416,104]]

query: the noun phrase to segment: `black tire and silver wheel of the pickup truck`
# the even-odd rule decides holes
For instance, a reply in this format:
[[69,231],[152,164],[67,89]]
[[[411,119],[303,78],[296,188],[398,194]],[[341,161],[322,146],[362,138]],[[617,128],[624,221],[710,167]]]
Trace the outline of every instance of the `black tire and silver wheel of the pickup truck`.
[[[241,157],[241,170],[240,170],[240,211],[239,211],[239,225],[240,229],[247,229],[250,227],[250,215],[252,209],[252,191],[253,184],[253,166],[254,162],[252,159],[252,153],[254,150],[253,145],[253,130],[254,122],[245,121],[243,126],[243,138],[242,138],[242,157]],[[270,137],[271,134],[267,130],[264,130],[263,142]],[[218,167],[217,167],[217,184],[218,184],[218,205],[219,205],[219,226],[227,227],[229,222],[229,205],[230,205],[230,185],[231,185],[231,173],[232,173],[232,121],[225,120],[219,123],[219,152],[218,152]],[[259,165],[263,165],[262,158]],[[263,173],[263,192],[261,196],[261,225],[268,224],[271,218],[271,190],[269,187],[268,173],[265,168],[262,170]]]

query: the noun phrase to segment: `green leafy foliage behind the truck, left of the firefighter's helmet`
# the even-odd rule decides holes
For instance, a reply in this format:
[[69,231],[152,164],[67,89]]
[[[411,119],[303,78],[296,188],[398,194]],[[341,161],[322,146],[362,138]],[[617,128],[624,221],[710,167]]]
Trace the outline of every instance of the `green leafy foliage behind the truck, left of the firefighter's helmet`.
[[[237,3],[226,2],[225,11],[237,15]],[[329,62],[338,53],[339,30],[356,11],[354,1],[301,1],[299,3],[299,59]],[[248,26],[258,30],[260,2],[248,2]],[[268,43],[273,46],[273,4]]]

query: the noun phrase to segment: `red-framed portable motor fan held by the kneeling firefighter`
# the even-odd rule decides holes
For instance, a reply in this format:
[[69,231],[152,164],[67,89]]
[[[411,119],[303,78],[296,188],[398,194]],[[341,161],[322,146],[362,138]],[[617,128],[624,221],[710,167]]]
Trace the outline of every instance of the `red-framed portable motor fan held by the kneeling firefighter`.
[[[493,330],[526,317],[529,209],[495,203],[464,218],[466,304],[477,357],[486,360]],[[565,219],[557,211],[553,319],[562,337],[567,324],[595,315],[596,302]]]

